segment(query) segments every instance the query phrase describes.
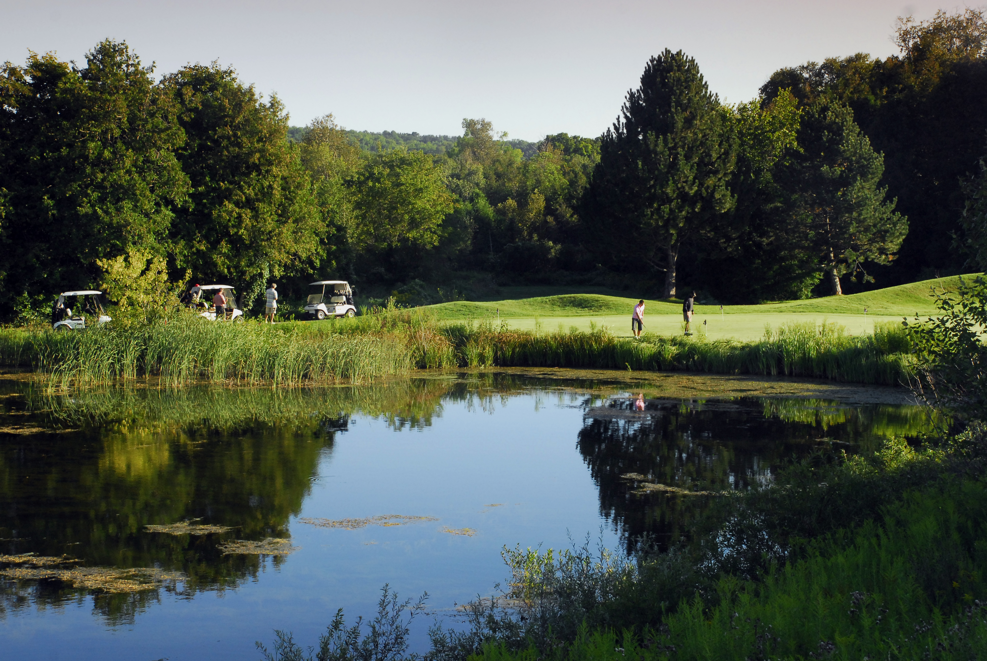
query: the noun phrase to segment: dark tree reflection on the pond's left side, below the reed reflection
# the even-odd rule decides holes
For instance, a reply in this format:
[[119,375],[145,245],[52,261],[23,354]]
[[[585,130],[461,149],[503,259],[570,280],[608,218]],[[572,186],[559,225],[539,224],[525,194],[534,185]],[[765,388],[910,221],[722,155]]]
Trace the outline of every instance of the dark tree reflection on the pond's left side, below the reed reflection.
[[[225,589],[257,575],[258,556],[221,555],[218,536],[174,537],[144,527],[201,519],[235,527],[224,537],[286,537],[332,434],[318,425],[33,435],[0,446],[0,515],[6,552],[68,554],[89,566],[160,567],[188,576],[184,595]],[[277,562],[277,560],[274,560]],[[23,588],[24,586],[22,586]],[[168,588],[171,589],[171,588]],[[33,601],[75,591],[34,586]],[[23,589],[22,589],[23,596]],[[154,592],[103,595],[96,607],[124,620]]]

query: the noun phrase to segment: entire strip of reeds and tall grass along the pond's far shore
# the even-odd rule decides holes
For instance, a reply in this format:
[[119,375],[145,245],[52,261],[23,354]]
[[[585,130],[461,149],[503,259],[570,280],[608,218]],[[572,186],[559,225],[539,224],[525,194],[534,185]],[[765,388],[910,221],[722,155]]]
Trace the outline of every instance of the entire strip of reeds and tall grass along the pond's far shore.
[[85,331],[0,329],[0,365],[31,368],[67,387],[144,376],[165,385],[236,381],[366,383],[418,369],[579,368],[802,376],[898,385],[907,379],[904,329],[876,324],[850,336],[838,324],[788,323],[754,342],[703,335],[619,338],[519,331],[492,322],[443,324],[390,310],[335,324],[210,323],[177,313],[149,324]]

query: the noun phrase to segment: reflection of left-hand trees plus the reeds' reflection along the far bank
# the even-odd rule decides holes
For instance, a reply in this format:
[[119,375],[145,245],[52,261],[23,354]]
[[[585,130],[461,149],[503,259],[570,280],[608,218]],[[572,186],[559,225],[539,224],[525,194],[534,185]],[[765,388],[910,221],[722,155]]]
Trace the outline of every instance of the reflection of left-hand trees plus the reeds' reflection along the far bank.
[[[481,373],[294,389],[107,387],[52,393],[16,384],[22,394],[0,400],[2,408],[17,414],[19,423],[50,432],[0,433],[0,553],[67,554],[88,566],[159,567],[188,576],[159,590],[93,595],[97,612],[108,620],[130,621],[160,600],[160,590],[191,597],[256,577],[262,568],[258,556],[224,556],[217,542],[287,537],[287,523],[301,510],[320,456],[332,452],[335,435],[348,428],[351,416],[420,429],[442,414],[443,402],[493,411],[535,383]],[[551,393],[545,396],[554,401]],[[557,397],[581,401],[583,395],[562,387]],[[202,537],[145,531],[189,519],[234,531]],[[57,581],[0,581],[0,615],[84,598],[85,592]]]

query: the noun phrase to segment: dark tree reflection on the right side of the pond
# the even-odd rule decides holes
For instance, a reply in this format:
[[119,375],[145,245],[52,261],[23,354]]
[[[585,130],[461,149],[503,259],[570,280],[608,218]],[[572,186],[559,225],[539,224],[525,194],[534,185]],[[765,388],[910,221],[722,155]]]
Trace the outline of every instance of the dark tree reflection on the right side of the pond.
[[645,533],[665,546],[687,535],[713,497],[641,493],[622,475],[690,491],[745,489],[770,481],[786,461],[833,443],[870,449],[881,437],[915,436],[932,424],[919,407],[813,399],[650,400],[643,412],[632,403],[588,408],[577,440],[602,515],[631,545]]

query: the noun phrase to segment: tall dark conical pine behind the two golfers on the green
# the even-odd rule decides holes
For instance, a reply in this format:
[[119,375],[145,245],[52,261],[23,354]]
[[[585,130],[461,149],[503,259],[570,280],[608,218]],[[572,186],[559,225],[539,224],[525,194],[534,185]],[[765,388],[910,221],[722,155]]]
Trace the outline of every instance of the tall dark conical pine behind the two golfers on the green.
[[699,65],[681,50],[651,57],[603,136],[584,198],[588,245],[622,266],[664,273],[675,295],[676,263],[733,205],[728,182],[735,139]]

